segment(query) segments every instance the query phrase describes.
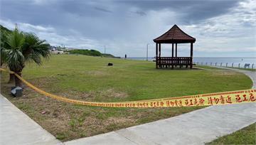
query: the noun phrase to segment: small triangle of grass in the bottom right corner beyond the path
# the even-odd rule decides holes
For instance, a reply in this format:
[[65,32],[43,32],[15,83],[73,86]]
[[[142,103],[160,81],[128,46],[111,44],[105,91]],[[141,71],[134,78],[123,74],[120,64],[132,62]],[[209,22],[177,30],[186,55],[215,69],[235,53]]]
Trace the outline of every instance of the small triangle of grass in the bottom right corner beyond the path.
[[235,131],[233,134],[219,137],[207,145],[213,144],[256,144],[256,124]]

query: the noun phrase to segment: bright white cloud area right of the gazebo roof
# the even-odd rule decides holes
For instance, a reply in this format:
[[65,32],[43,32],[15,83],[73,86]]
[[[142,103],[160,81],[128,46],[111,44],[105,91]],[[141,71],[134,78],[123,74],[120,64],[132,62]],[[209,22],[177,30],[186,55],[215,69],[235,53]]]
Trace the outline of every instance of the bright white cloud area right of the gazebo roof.
[[[254,1],[242,1],[230,13],[208,18],[202,23],[184,26],[198,35],[197,50],[203,52],[256,53],[256,10]],[[245,25],[249,23],[250,25]],[[200,32],[200,33],[198,33]]]

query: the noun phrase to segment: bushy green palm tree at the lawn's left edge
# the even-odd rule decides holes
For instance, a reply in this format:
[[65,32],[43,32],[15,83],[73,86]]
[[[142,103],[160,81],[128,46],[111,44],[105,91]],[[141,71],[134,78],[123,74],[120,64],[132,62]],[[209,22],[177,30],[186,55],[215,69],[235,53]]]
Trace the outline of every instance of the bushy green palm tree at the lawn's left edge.
[[[18,31],[18,26],[6,39],[5,63],[11,71],[21,75],[26,62],[33,61],[41,65],[42,58],[50,56],[49,44],[46,41],[41,41],[33,33],[23,33]],[[21,86],[21,80],[15,77],[15,85]]]

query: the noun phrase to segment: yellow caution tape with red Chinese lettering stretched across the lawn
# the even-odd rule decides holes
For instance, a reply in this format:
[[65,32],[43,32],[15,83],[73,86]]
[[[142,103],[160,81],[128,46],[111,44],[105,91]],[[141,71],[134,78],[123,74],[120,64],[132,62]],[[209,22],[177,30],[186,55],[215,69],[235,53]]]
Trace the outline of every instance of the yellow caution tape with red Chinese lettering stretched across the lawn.
[[201,95],[190,95],[184,97],[166,97],[154,100],[139,100],[129,102],[87,102],[81,100],[72,100],[66,97],[53,95],[45,92],[38,87],[35,87],[30,82],[24,80],[21,76],[16,73],[0,68],[1,71],[9,72],[16,75],[23,83],[31,87],[31,89],[46,95],[55,100],[62,102],[69,102],[73,104],[82,104],[86,106],[97,106],[97,107],[193,107],[193,106],[210,106],[218,104],[239,104],[247,102],[256,102],[256,90],[238,90],[230,92],[216,92],[210,94]]

